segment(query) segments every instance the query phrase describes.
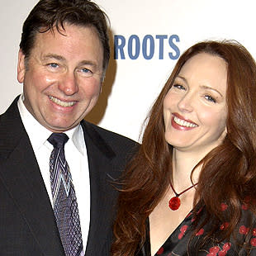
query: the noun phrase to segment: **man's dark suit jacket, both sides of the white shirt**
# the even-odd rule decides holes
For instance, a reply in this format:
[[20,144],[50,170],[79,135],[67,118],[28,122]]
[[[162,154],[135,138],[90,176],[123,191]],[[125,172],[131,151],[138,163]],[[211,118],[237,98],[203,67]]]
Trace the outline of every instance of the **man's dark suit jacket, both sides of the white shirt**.
[[[135,142],[86,121],[91,219],[86,256],[105,256],[119,177]],[[85,246],[85,244],[84,244]],[[31,142],[21,122],[17,98],[0,116],[0,256],[64,256],[55,216]]]

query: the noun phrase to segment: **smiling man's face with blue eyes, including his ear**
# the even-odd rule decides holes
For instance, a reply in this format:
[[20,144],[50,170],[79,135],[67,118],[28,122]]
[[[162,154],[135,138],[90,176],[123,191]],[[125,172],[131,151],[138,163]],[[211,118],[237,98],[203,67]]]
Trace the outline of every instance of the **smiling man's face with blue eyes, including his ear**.
[[77,126],[101,91],[103,49],[93,27],[65,24],[64,35],[38,33],[26,60],[19,52],[17,79],[28,111],[53,132]]

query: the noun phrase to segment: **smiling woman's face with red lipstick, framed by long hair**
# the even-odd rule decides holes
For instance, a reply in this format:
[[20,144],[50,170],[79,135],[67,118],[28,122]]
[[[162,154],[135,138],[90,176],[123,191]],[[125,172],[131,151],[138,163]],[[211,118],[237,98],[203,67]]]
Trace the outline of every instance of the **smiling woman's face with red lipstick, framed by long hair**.
[[165,140],[175,149],[208,153],[226,135],[224,59],[200,53],[188,59],[164,98]]

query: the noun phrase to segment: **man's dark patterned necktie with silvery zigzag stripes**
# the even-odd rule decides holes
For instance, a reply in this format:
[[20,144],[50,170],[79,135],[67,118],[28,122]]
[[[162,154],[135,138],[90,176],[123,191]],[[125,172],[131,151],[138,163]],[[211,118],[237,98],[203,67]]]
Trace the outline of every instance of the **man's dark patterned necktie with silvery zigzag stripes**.
[[69,165],[64,145],[69,140],[64,133],[53,133],[48,141],[54,146],[50,154],[50,183],[55,219],[66,256],[82,256],[83,241]]

